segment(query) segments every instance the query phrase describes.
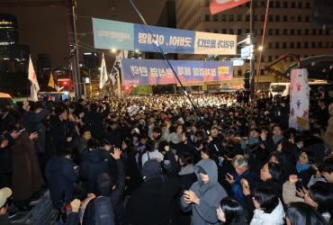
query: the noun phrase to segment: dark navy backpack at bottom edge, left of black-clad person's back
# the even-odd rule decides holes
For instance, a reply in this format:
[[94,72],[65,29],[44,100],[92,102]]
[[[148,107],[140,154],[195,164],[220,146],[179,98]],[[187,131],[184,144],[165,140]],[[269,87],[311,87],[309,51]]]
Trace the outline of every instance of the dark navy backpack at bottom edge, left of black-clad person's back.
[[114,225],[114,212],[110,197],[94,199],[94,225]]

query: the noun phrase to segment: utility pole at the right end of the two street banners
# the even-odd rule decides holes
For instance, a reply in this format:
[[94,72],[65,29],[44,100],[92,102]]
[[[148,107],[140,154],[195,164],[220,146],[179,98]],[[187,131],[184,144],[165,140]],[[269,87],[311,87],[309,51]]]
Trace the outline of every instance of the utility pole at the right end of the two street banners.
[[255,63],[256,63],[256,37],[255,37],[255,7],[254,1],[250,3],[250,45],[253,46],[253,52],[250,53],[250,68],[249,68],[249,84],[250,84],[250,99],[255,97]]

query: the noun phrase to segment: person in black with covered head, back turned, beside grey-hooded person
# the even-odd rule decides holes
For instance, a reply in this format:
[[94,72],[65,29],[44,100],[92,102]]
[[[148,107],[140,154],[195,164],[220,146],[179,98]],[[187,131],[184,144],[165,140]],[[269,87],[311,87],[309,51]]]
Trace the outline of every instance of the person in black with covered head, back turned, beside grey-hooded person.
[[179,183],[162,174],[160,163],[148,160],[142,167],[144,182],[130,195],[122,224],[169,224],[175,215],[171,202],[179,190]]

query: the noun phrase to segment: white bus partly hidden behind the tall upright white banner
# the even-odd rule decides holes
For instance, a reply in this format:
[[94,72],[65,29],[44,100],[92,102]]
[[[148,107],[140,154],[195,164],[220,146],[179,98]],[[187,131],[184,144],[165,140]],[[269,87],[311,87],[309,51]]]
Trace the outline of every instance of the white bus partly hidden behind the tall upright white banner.
[[[309,86],[311,88],[310,92],[316,92],[318,90],[318,87],[324,86],[325,90],[332,90],[333,84],[330,84],[326,81],[311,81],[309,82]],[[275,95],[279,96],[287,96],[290,94],[290,82],[287,83],[271,83],[269,85],[269,93],[272,97],[275,97]]]

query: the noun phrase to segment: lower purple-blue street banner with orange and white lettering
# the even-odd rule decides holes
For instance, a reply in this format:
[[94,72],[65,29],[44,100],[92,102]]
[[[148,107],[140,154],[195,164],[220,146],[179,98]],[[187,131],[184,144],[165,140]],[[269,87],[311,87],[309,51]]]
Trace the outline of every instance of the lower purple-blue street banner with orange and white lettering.
[[[175,73],[184,84],[231,80],[231,61],[170,60]],[[123,58],[121,61],[122,85],[177,84],[172,69],[165,60]]]

